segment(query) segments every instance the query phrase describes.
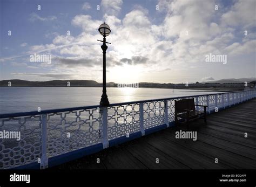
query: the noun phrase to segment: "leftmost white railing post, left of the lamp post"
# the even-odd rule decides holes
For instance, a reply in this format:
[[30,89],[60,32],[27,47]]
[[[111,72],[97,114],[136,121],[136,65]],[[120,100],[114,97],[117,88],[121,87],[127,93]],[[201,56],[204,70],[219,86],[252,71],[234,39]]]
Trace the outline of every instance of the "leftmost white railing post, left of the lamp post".
[[41,115],[42,120],[42,155],[40,158],[40,169],[48,168],[48,155],[47,155],[47,114]]

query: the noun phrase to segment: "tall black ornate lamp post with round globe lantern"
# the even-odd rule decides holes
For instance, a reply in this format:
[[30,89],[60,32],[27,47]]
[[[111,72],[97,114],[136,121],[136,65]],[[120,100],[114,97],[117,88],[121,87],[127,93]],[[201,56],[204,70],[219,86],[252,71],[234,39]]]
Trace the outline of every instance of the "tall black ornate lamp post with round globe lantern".
[[109,25],[107,25],[105,22],[99,26],[99,33],[102,34],[103,36],[103,41],[102,41],[102,51],[103,51],[103,91],[102,91],[102,98],[100,99],[99,105],[101,107],[108,107],[109,106],[109,99],[107,98],[106,94],[106,50],[107,50],[107,44],[110,44],[106,42],[106,36],[109,36],[111,30]]

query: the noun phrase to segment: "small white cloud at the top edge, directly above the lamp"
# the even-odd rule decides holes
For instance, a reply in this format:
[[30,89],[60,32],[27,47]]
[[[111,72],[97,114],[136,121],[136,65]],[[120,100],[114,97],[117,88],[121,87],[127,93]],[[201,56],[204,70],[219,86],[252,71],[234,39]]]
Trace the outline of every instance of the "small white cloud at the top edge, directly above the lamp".
[[122,0],[102,0],[100,4],[107,15],[117,15],[121,10]]

